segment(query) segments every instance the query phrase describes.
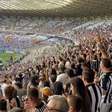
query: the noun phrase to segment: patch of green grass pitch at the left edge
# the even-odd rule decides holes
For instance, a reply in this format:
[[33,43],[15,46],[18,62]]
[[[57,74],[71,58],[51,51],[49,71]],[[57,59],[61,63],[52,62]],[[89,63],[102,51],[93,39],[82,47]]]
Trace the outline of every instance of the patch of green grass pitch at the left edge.
[[2,60],[2,62],[4,64],[7,64],[9,62],[11,56],[13,57],[13,59],[15,61],[15,60],[19,59],[22,56],[22,54],[19,54],[19,53],[6,53],[6,52],[0,53],[0,60]]

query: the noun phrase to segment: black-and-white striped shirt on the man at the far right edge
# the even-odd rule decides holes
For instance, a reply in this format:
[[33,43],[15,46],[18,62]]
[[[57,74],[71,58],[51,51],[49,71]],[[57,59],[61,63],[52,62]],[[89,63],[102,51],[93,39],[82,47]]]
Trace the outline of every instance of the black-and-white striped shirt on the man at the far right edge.
[[101,88],[106,91],[103,96],[104,103],[112,103],[112,73],[103,73],[100,77]]

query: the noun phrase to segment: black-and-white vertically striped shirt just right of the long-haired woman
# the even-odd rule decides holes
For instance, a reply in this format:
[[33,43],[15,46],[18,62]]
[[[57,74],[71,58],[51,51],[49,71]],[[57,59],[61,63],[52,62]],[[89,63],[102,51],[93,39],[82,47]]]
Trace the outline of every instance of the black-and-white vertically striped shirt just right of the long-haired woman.
[[100,102],[102,98],[101,88],[100,86],[96,84],[89,84],[87,88],[88,88],[88,94],[90,97],[90,101],[92,104],[91,112],[99,112]]

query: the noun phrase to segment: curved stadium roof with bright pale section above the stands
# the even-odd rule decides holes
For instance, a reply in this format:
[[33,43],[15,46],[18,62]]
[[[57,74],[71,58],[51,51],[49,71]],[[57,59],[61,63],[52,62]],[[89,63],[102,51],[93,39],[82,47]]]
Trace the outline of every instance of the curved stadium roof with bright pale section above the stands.
[[0,14],[101,16],[112,13],[112,0],[0,0]]

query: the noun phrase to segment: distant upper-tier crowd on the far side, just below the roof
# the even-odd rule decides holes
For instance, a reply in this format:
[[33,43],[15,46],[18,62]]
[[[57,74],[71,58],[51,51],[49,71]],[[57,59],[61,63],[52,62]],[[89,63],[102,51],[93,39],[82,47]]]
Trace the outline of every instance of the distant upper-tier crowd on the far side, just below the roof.
[[[83,20],[83,19],[82,19]],[[84,22],[85,20],[83,20]],[[1,16],[1,32],[15,33],[43,33],[61,34],[81,23],[81,19],[74,18],[51,18],[51,17],[24,17],[24,16]]]

